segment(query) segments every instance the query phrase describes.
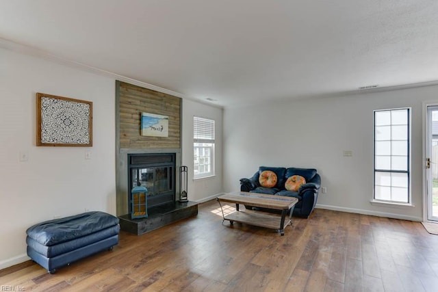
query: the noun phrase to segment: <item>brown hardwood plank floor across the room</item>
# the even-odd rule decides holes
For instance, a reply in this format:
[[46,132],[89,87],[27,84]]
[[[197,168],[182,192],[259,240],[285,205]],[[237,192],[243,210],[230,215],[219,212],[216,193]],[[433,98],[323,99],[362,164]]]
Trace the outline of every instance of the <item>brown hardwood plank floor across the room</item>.
[[[438,235],[419,222],[315,209],[274,230],[196,217],[136,236],[56,274],[27,261],[1,291],[438,291]],[[233,207],[230,205],[230,210]]]

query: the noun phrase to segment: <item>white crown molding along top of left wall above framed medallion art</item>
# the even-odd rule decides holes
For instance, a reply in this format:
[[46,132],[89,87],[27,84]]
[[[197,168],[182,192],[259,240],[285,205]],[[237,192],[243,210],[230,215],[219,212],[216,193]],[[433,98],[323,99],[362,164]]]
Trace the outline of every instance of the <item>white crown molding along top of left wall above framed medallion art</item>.
[[59,57],[57,55],[53,55],[51,53],[48,53],[47,51],[36,49],[34,47],[29,47],[29,46],[27,46],[25,44],[18,44],[17,42],[12,42],[10,40],[6,40],[5,38],[0,38],[0,47],[3,48],[3,49],[8,49],[10,51],[15,51],[17,53],[22,53],[22,54],[25,54],[25,55],[31,55],[31,56],[34,56],[34,57],[40,57],[42,59],[47,59],[49,61],[52,61],[52,62],[55,62],[55,63],[58,63],[58,64],[63,64],[65,66],[69,66],[69,67],[73,67],[73,68],[79,68],[80,70],[84,70],[84,71],[87,71],[87,72],[92,72],[92,73],[94,73],[96,75],[102,75],[102,76],[105,76],[105,77],[112,77],[112,78],[114,78],[116,80],[123,81],[123,82],[126,82],[126,83],[130,83],[130,84],[133,84],[133,85],[138,85],[138,86],[140,86],[142,88],[147,88],[147,89],[150,89],[150,90],[155,90],[157,92],[162,92],[162,93],[170,94],[170,95],[177,96],[177,97],[180,97],[180,98],[187,97],[187,96],[184,96],[183,94],[181,94],[179,92],[175,92],[175,91],[172,91],[172,90],[167,90],[166,88],[160,88],[159,86],[155,86],[155,85],[152,85],[152,84],[149,84],[149,83],[138,81],[136,79],[131,79],[129,77],[118,75],[118,74],[110,72],[110,71],[106,71],[106,70],[102,70],[102,69],[95,68],[95,67],[92,67],[92,66],[88,66],[86,64],[83,64],[83,63],[80,63],[80,62],[75,62],[75,61],[72,61],[70,59],[65,59],[63,57]]

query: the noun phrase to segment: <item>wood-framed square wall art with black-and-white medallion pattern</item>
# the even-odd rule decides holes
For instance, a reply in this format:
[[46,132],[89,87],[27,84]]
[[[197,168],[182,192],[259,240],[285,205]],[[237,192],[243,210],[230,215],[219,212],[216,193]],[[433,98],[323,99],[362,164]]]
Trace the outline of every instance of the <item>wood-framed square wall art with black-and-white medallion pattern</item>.
[[36,146],[92,146],[91,101],[36,94]]

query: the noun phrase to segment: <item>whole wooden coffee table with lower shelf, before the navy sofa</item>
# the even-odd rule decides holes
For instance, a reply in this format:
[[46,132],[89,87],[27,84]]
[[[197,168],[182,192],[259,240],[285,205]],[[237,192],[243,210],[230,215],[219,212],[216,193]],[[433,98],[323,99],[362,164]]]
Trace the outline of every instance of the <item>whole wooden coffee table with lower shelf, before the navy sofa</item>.
[[[281,236],[285,235],[285,227],[288,224],[292,225],[292,211],[294,211],[295,204],[298,202],[298,199],[293,197],[248,193],[246,191],[223,194],[218,196],[216,200],[218,200],[220,209],[222,210],[222,222],[224,222],[224,220],[229,220],[230,225],[233,225],[233,222],[241,222],[254,226],[271,228],[279,230]],[[224,215],[224,210],[222,209],[221,204],[222,202],[235,203],[236,212]],[[253,210],[240,211],[239,204],[248,204],[253,207],[279,210],[281,211],[281,215]],[[289,212],[289,218],[286,219],[287,212]]]

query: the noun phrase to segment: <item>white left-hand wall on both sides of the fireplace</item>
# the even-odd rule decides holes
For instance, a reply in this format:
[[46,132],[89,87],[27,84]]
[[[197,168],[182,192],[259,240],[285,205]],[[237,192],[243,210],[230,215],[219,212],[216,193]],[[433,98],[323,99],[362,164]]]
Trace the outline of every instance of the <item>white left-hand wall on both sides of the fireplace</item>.
[[[99,74],[53,57],[40,57],[40,52],[23,47],[14,49],[14,46],[0,47],[0,64],[0,212],[3,216],[0,269],[3,269],[29,259],[25,230],[33,224],[86,209],[116,215],[114,113],[116,79],[121,77]],[[93,146],[37,147],[36,92],[92,101]],[[192,129],[194,112],[217,118],[218,124],[222,124],[222,109],[183,99],[183,129]],[[184,118],[185,114],[190,116]],[[222,133],[222,128],[218,127],[218,131]],[[182,142],[184,155],[188,155],[182,157],[185,165],[193,163],[192,137]],[[216,141],[220,152],[221,137],[218,135]],[[91,151],[91,159],[85,159],[86,150]],[[20,161],[22,153],[27,154],[27,161]],[[218,176],[211,178],[208,185],[189,182],[190,200],[205,200],[221,191],[221,165],[221,160],[216,161]]]

